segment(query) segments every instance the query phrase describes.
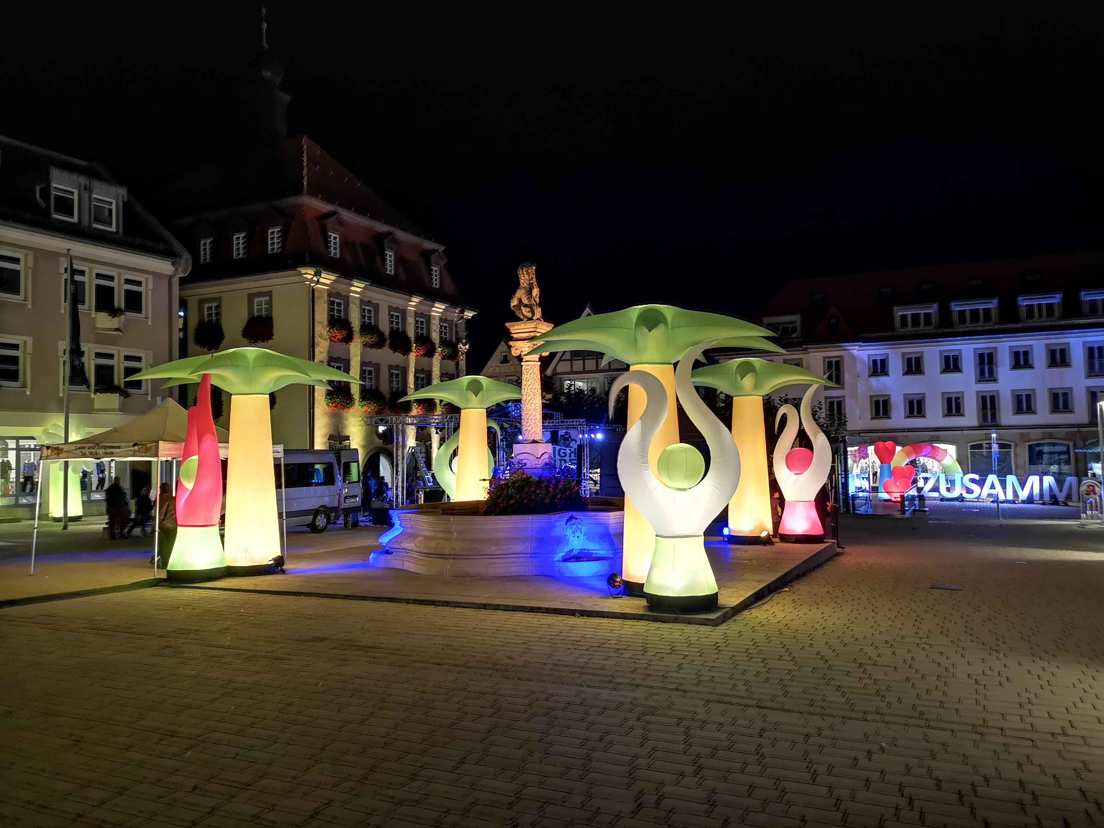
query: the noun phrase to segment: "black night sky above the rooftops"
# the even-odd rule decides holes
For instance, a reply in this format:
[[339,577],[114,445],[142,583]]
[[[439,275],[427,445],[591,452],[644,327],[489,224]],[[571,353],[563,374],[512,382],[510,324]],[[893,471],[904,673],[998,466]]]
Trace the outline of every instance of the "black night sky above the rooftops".
[[[566,321],[1104,246],[1104,7],[731,6],[269,2],[268,41],[289,132],[446,245],[475,371],[527,259]],[[4,28],[0,134],[139,198],[242,129],[259,3],[38,3]]]

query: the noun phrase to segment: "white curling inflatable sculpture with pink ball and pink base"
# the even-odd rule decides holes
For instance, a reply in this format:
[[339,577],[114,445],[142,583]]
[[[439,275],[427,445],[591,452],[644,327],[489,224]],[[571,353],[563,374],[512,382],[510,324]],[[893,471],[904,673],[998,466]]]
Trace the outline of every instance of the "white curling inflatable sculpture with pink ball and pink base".
[[[816,389],[816,385],[810,385],[802,397],[800,423],[793,405],[783,405],[774,418],[777,431],[778,423],[786,417],[786,427],[774,447],[774,477],[786,498],[778,538],[790,543],[817,543],[825,538],[814,500],[831,470],[831,446],[813,420],[813,392]],[[811,452],[793,448],[798,425],[804,425],[805,433],[813,438]]]

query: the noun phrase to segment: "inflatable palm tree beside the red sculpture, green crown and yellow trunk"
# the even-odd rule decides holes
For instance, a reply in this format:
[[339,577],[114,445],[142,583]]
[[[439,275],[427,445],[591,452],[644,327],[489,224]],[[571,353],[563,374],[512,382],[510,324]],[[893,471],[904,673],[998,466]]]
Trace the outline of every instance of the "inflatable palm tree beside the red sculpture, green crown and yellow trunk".
[[264,348],[231,348],[157,365],[131,379],[168,379],[166,388],[211,382],[233,396],[226,463],[226,566],[231,574],[267,570],[279,554],[276,476],[268,394],[287,385],[329,388],[327,381],[357,382],[344,371]]

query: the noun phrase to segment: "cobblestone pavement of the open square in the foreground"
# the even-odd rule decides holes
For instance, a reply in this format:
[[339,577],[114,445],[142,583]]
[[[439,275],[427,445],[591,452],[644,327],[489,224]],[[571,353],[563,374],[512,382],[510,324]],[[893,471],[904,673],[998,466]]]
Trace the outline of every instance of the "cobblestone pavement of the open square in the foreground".
[[1104,535],[842,529],[719,628],[163,587],[4,609],[0,824],[1104,825]]

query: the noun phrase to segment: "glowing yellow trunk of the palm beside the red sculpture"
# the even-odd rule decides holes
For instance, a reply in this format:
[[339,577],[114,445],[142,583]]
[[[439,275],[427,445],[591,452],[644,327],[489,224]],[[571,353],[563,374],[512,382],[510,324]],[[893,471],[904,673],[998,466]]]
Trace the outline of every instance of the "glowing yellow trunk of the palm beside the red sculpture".
[[226,463],[226,565],[264,572],[280,554],[268,394],[234,394]]

